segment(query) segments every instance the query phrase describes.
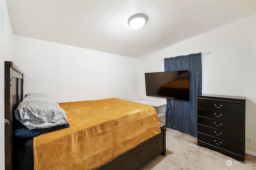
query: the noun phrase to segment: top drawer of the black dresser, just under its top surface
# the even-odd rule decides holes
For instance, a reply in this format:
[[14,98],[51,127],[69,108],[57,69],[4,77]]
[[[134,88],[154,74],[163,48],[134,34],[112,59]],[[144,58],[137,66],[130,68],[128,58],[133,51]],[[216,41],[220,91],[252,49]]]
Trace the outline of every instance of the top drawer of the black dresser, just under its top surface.
[[197,100],[199,108],[224,111],[230,113],[245,114],[245,105],[242,103],[229,103],[226,101],[210,101],[210,100]]

